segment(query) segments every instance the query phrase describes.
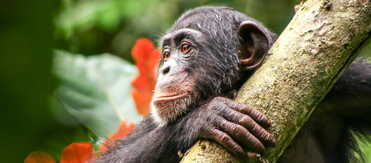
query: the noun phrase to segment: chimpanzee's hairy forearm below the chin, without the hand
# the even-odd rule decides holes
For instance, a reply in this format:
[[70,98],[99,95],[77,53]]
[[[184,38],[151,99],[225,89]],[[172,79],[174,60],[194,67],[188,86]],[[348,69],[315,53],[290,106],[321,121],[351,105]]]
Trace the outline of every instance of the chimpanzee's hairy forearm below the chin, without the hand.
[[[155,127],[150,116],[144,120],[126,137],[108,146],[94,160],[95,163],[156,163],[179,162],[172,139],[187,139],[172,131],[173,127]],[[185,129],[187,130],[187,129]],[[184,131],[187,132],[187,131]],[[181,137],[179,137],[181,136]]]

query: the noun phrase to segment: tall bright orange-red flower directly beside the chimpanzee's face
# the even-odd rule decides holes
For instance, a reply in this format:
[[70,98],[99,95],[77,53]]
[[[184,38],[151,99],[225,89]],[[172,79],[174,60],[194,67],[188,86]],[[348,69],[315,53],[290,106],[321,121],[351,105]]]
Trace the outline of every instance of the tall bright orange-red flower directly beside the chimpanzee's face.
[[139,75],[131,82],[134,87],[131,96],[134,98],[139,114],[142,115],[149,113],[152,91],[155,89],[157,82],[155,69],[160,60],[160,51],[154,50],[154,47],[151,40],[141,38],[131,49],[135,66],[139,70]]

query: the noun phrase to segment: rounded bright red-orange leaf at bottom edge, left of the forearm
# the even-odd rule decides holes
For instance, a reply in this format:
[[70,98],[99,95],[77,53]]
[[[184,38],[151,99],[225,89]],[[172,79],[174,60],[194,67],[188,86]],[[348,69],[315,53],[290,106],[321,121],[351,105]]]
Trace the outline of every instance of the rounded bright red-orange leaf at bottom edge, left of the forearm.
[[72,143],[62,152],[60,163],[86,163],[92,160],[94,147],[90,143]]

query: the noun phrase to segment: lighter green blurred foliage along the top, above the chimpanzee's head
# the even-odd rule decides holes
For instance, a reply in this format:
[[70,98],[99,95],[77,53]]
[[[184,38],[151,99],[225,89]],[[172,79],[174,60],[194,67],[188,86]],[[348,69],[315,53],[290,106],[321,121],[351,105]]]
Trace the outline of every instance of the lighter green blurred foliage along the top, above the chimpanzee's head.
[[[56,17],[61,49],[86,55],[111,53],[133,61],[135,40],[159,40],[185,10],[197,6],[228,6],[261,21],[280,34],[301,0],[62,0]],[[371,53],[371,46],[367,53]]]

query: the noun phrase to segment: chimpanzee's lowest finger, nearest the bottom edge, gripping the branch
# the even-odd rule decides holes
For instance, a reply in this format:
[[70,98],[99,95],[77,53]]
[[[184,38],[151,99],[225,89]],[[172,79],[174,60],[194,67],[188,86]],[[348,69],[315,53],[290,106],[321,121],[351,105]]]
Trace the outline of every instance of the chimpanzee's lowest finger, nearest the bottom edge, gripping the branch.
[[242,147],[239,146],[227,133],[224,133],[218,129],[213,129],[211,130],[211,134],[213,135],[211,137],[212,139],[215,138],[218,143],[235,154],[237,157],[247,157]]

